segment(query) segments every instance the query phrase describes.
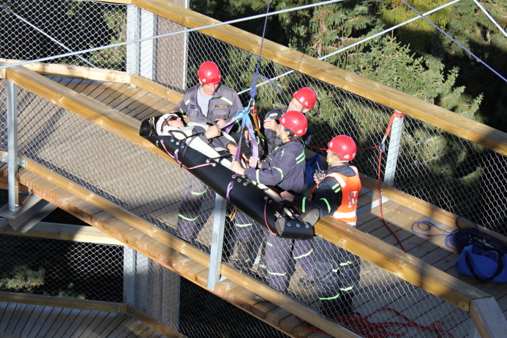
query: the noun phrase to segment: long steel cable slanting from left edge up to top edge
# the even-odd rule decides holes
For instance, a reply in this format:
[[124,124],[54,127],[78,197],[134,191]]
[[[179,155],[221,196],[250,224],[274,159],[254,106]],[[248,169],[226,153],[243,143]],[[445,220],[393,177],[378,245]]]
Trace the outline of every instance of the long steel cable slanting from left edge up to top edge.
[[77,51],[77,52],[59,54],[59,55],[55,55],[55,56],[48,56],[48,57],[43,57],[43,58],[39,58],[39,59],[35,59],[35,60],[17,62],[17,63],[13,63],[13,64],[9,64],[9,65],[0,66],[0,70],[1,69],[15,67],[15,66],[20,66],[20,65],[24,65],[24,64],[34,63],[34,62],[42,62],[42,61],[57,59],[57,58],[60,58],[60,57],[65,57],[65,56],[73,56],[73,55],[94,52],[94,51],[97,51],[97,50],[102,50],[102,49],[107,49],[107,48],[124,46],[124,45],[128,45],[128,44],[131,44],[131,43],[137,43],[137,42],[154,40],[154,39],[158,39],[158,38],[169,37],[169,36],[177,35],[177,34],[180,34],[180,33],[188,33],[188,32],[191,32],[191,31],[201,30],[201,29],[205,29],[205,28],[218,27],[218,26],[228,25],[228,24],[232,24],[232,23],[236,23],[236,22],[242,22],[242,21],[247,21],[247,20],[252,20],[252,19],[263,18],[263,17],[269,16],[269,15],[276,15],[276,14],[281,14],[281,13],[286,13],[286,12],[297,11],[297,10],[301,10],[301,9],[305,9],[305,8],[316,7],[316,6],[320,6],[320,5],[327,5],[327,4],[332,4],[332,3],[338,3],[338,2],[342,2],[342,1],[345,1],[345,0],[328,0],[328,1],[323,1],[323,2],[320,2],[320,3],[316,3],[316,4],[304,5],[304,6],[294,7],[294,8],[288,8],[288,9],[284,9],[284,10],[280,10],[280,11],[276,11],[276,12],[270,12],[270,13],[265,13],[265,14],[253,15],[253,16],[249,16],[249,17],[246,17],[246,18],[240,18],[240,19],[235,19],[235,20],[230,20],[230,21],[225,21],[225,22],[219,22],[219,23],[213,23],[211,25],[205,25],[205,26],[196,27],[196,28],[189,28],[189,29],[179,30],[179,31],[165,33],[165,34],[161,34],[161,35],[156,35],[156,36],[148,37],[148,38],[142,38],[142,39],[137,39],[137,40],[132,40],[132,41],[120,42],[120,43],[117,43],[117,44],[112,44],[112,45],[107,45],[107,46],[102,46],[102,47],[89,48],[89,49],[80,50],[80,51]]

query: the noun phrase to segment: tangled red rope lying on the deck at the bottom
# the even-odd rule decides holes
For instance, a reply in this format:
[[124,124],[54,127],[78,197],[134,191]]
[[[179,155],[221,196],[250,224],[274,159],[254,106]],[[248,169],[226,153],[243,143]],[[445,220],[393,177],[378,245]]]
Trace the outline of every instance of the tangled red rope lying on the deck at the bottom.
[[[396,315],[402,317],[405,321],[372,322],[368,319],[370,316],[383,310],[391,311]],[[299,317],[297,318],[301,323],[301,326],[303,326],[305,329],[312,332],[327,333],[314,327],[313,325],[309,326],[307,323],[303,322],[301,318]],[[446,331],[443,328],[442,322],[440,320],[436,320],[430,325],[425,326],[418,324],[417,322],[409,319],[407,316],[402,315],[399,311],[396,311],[391,308],[380,308],[379,310],[372,312],[366,317],[361,316],[360,313],[358,312],[354,312],[352,315],[338,316],[336,317],[336,319],[339,323],[343,324],[349,330],[357,334],[360,334],[366,338],[400,337],[406,335],[408,333],[409,328],[411,327],[432,331],[436,333],[437,337],[439,338],[454,337],[454,335],[451,332]],[[387,330],[387,328],[393,329]],[[404,331],[397,332],[400,329],[404,329]]]

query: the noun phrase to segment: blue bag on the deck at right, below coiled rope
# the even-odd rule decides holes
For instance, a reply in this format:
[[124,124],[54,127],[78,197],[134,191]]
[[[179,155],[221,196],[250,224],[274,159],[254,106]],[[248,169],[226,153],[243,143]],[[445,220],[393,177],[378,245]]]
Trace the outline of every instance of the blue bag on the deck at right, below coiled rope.
[[461,251],[456,269],[460,274],[475,277],[484,283],[507,283],[507,254],[486,251],[470,244]]

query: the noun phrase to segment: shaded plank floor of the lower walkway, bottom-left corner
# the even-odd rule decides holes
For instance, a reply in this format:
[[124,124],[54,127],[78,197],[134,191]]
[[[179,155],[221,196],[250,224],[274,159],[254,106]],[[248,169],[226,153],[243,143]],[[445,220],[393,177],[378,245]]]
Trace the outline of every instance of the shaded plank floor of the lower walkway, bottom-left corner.
[[35,338],[165,337],[126,314],[0,302],[2,334]]

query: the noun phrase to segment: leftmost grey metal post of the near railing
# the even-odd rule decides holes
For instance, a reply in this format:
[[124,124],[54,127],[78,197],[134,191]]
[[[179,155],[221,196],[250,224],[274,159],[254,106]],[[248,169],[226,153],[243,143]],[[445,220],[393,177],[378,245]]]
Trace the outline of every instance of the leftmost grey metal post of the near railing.
[[7,166],[9,210],[19,207],[18,174],[18,87],[7,81]]

